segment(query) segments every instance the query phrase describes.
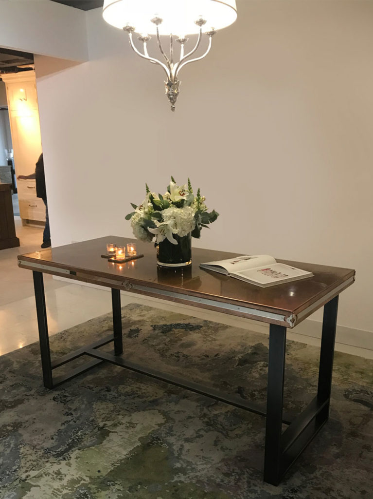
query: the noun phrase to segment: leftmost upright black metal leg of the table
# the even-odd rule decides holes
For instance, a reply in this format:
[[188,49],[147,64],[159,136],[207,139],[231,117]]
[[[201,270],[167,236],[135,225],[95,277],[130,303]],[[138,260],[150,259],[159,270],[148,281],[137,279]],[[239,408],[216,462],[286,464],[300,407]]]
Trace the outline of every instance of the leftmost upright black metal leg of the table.
[[43,274],[32,271],[34,279],[37,325],[39,329],[41,368],[43,381],[46,388],[53,388],[52,365],[50,360],[47,312],[45,307]]

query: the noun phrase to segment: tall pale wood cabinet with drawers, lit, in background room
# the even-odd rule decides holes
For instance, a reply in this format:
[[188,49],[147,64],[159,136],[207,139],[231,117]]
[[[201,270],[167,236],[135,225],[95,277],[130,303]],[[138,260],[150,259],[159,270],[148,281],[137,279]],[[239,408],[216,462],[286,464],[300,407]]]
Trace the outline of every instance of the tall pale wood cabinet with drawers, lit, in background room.
[[[3,74],[8,103],[15,174],[30,175],[41,154],[35,72]],[[35,180],[19,180],[19,214],[23,224],[45,222],[45,206],[36,197]]]

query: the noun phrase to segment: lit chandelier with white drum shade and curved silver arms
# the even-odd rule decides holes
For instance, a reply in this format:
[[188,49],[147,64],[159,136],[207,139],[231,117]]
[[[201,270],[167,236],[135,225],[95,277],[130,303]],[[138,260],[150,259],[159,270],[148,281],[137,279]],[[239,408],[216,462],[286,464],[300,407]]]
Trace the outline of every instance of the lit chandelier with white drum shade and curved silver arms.
[[[237,18],[235,0],[105,0],[103,17],[111,25],[124,29],[128,33],[129,44],[137,55],[162,67],[167,80],[166,95],[175,111],[179,95],[180,70],[189,62],[203,59],[210,51],[212,37],[218,29],[229,26]],[[133,41],[137,33],[138,49]],[[201,45],[203,34],[208,37],[205,52],[192,57]],[[186,50],[187,35],[197,35],[197,40],[189,51]],[[147,42],[150,35],[155,35],[161,54],[158,59],[148,54]],[[167,49],[161,36],[167,35]],[[176,50],[177,42],[179,48]],[[175,54],[179,53],[176,61]]]

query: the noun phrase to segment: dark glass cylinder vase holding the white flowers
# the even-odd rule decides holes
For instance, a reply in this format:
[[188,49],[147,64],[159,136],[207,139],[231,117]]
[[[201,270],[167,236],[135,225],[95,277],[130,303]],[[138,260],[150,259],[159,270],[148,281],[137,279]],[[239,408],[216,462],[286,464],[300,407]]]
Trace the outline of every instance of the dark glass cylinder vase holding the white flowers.
[[192,236],[180,238],[173,234],[177,245],[173,245],[164,239],[157,245],[157,264],[162,267],[185,267],[192,263]]

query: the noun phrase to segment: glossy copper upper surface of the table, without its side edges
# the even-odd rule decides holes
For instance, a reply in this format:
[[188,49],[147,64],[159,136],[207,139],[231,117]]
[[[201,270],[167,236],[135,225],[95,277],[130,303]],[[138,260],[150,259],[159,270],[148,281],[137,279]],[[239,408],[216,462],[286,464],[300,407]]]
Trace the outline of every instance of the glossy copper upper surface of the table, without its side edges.
[[[41,270],[43,272],[57,275],[59,274],[58,269],[77,272],[76,278],[78,280],[92,281],[84,279],[84,276],[91,276],[92,279],[96,277],[110,278],[112,281],[118,282],[119,286],[124,281],[128,281],[173,293],[212,298],[220,302],[241,304],[246,307],[252,306],[262,310],[283,311],[286,314],[295,315],[309,308],[312,303],[320,303],[323,297],[330,299],[333,297],[333,293],[334,295],[339,294],[341,290],[353,283],[355,275],[353,269],[277,260],[309,270],[313,272],[314,276],[261,288],[199,267],[200,263],[230,258],[237,256],[237,253],[193,248],[192,265],[177,269],[164,268],[156,264],[156,250],[152,243],[136,241],[137,252],[143,253],[143,258],[122,264],[109,262],[106,258],[101,257],[101,254],[106,252],[107,243],[124,246],[129,242],[134,242],[134,240],[107,236],[36,251],[19,255],[19,266],[36,269],[31,265],[37,262],[44,266]],[[48,267],[53,267],[53,269],[48,269]]]

